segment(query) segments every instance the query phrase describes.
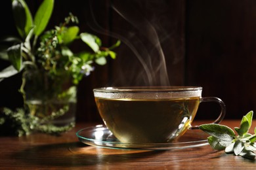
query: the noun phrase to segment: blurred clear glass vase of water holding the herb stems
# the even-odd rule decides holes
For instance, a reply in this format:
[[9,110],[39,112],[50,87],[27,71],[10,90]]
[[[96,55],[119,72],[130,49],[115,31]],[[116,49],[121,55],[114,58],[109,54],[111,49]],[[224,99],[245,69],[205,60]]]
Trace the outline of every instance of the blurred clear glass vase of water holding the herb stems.
[[22,78],[24,104],[40,124],[67,126],[75,123],[77,86],[68,73],[26,71]]

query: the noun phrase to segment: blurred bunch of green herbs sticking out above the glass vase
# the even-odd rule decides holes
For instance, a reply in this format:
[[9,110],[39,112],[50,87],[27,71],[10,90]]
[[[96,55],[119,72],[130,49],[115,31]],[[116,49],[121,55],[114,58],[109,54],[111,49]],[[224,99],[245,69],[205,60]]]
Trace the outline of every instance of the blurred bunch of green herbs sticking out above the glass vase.
[[[116,52],[113,49],[119,46],[120,41],[109,48],[102,46],[101,40],[96,35],[87,32],[80,33],[77,26],[78,19],[71,13],[63,23],[55,26],[54,29],[45,31],[53,9],[54,0],[44,0],[35,12],[35,16],[32,16],[26,1],[12,0],[12,12],[20,37],[5,37],[1,41],[3,43],[0,58],[10,61],[11,64],[0,71],[0,81],[18,73],[40,71],[53,80],[63,75],[62,73],[67,73],[72,78],[72,83],[77,85],[83,76],[90,75],[94,70],[94,63],[105,65],[108,56],[112,59],[116,58]],[[84,42],[87,50],[74,53],[70,45],[75,41]],[[26,93],[23,89],[26,84],[25,78],[22,78],[22,81],[20,92]],[[14,115],[17,112],[26,114],[26,109],[3,110],[5,111],[0,112],[1,122],[5,122],[5,117],[11,118],[7,116],[10,112]],[[9,114],[5,114],[7,112]]]

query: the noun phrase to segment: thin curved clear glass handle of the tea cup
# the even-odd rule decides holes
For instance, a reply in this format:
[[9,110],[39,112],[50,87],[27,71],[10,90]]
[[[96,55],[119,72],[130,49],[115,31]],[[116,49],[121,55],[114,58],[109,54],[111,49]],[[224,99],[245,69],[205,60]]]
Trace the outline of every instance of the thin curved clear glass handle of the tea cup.
[[[219,115],[219,117],[214,122],[212,122],[212,124],[219,124],[223,120],[223,118],[226,114],[226,105],[218,97],[202,97],[201,100],[200,100],[200,103],[201,102],[209,102],[209,101],[217,102],[221,106],[221,114]],[[191,126],[190,129],[199,129],[199,127],[198,126]]]

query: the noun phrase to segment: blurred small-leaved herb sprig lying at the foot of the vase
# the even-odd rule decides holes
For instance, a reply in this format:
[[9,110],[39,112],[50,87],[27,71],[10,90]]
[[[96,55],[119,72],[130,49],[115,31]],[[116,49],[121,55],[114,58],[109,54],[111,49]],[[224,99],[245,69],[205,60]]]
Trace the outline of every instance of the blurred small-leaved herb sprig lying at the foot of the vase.
[[[64,107],[68,109],[68,107]],[[74,127],[74,123],[66,126],[54,126],[53,124],[43,124],[58,118],[64,114],[63,109],[43,118],[43,121],[37,117],[25,112],[24,109],[17,109],[15,111],[7,108],[0,110],[0,134],[1,135],[30,135],[30,133],[41,132],[50,135],[60,135],[64,131],[68,131]]]

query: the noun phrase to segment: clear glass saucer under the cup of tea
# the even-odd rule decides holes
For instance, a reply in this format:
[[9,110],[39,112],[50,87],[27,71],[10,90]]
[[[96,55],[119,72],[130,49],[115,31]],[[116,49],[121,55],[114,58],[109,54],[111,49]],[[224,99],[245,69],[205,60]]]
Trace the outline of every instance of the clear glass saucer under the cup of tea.
[[188,129],[184,135],[171,143],[121,143],[104,125],[85,127],[76,133],[79,141],[91,146],[143,150],[173,150],[205,146],[207,135],[203,131]]

